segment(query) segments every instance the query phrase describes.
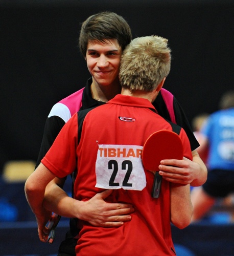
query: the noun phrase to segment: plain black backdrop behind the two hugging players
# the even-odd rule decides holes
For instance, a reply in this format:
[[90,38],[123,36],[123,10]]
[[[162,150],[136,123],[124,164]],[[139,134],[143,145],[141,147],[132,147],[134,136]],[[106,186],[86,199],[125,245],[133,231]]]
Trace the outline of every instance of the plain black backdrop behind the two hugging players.
[[217,110],[233,89],[234,1],[0,0],[0,169],[11,159],[36,160],[53,104],[85,86],[80,24],[105,10],[122,15],[133,37],[169,39],[165,88],[190,121]]

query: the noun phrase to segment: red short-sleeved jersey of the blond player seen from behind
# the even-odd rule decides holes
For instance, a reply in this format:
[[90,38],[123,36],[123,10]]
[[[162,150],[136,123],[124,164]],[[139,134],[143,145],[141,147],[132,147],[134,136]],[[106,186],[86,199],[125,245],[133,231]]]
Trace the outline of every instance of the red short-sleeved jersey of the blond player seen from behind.
[[[159,198],[152,198],[154,175],[143,169],[145,184],[141,161],[138,161],[146,139],[165,129],[172,131],[170,122],[155,113],[147,99],[123,95],[115,96],[86,115],[79,143],[78,115],[64,125],[42,163],[58,177],[78,169],[75,199],[86,201],[108,186],[120,186],[106,201],[131,203],[135,208],[131,221],[118,228],[94,227],[79,220],[78,255],[175,255],[171,238],[170,183],[162,180]],[[179,136],[184,156],[192,159],[190,142],[183,129]],[[107,163],[111,164],[106,166]],[[125,186],[124,170],[129,170],[131,164],[133,171]],[[116,179],[120,174],[119,182],[112,179],[114,172]],[[101,183],[97,177],[101,177]],[[134,190],[127,187],[129,185]]]

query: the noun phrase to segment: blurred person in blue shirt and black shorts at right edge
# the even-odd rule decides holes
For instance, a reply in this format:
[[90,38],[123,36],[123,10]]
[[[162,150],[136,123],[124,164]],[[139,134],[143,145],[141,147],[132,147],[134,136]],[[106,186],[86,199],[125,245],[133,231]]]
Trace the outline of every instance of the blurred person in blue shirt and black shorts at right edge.
[[234,91],[223,94],[219,108],[201,130],[203,141],[198,152],[202,155],[209,147],[208,176],[191,194],[193,222],[203,218],[218,198],[224,199],[234,191]]

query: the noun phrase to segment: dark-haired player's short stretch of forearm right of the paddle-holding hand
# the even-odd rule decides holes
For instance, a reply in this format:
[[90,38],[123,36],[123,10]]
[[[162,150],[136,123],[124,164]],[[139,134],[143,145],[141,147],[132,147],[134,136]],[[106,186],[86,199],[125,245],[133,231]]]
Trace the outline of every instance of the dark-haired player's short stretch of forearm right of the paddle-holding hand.
[[197,164],[197,171],[195,172],[194,180],[191,182],[191,186],[201,186],[207,179],[207,168],[204,162],[199,157],[196,150],[192,152],[193,162]]

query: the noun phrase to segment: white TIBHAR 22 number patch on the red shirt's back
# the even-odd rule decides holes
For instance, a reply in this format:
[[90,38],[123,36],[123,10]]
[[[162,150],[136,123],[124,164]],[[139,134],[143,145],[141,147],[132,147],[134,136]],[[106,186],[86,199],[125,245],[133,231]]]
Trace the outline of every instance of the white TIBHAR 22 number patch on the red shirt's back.
[[99,145],[96,187],[131,190],[146,187],[142,150],[143,146],[137,145]]

